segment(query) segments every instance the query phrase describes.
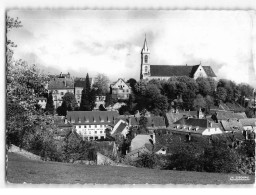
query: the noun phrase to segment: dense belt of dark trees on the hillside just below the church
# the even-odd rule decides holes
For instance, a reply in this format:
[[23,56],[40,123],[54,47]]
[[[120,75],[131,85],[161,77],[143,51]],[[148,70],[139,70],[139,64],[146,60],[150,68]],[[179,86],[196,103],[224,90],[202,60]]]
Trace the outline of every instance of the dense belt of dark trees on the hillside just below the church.
[[[233,81],[199,77],[196,80],[182,76],[169,80],[127,81],[133,93],[127,106],[121,107],[120,114],[134,113],[136,110],[147,109],[161,115],[171,108],[198,110],[209,112],[217,108],[221,102],[238,103],[248,107],[246,98],[253,97],[253,88],[248,84],[236,84]],[[236,110],[235,110],[236,111]],[[241,111],[241,110],[237,110]]]

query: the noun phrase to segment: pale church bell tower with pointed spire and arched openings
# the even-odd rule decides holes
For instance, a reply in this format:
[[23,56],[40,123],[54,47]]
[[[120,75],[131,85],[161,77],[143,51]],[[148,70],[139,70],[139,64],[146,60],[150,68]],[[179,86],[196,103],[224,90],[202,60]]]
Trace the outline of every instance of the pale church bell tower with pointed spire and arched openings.
[[147,39],[145,37],[144,45],[141,50],[141,71],[140,79],[147,79],[150,76],[150,64],[149,64],[150,51],[147,45]]

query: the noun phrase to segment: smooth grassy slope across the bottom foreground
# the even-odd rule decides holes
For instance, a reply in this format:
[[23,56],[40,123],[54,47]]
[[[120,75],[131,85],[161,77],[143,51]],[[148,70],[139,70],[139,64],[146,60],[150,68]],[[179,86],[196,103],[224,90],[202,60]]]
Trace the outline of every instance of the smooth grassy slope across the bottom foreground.
[[142,168],[74,165],[41,162],[19,154],[8,154],[7,180],[10,183],[82,183],[82,184],[237,184],[232,174],[166,171]]

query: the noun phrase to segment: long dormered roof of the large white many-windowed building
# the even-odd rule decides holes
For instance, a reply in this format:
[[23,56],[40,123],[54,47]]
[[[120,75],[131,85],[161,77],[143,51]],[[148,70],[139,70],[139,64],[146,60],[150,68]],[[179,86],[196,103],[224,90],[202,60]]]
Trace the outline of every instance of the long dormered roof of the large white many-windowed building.
[[[71,111],[67,112],[67,120],[74,124],[108,124],[114,125],[118,113],[116,111]],[[80,121],[80,122],[79,122]]]

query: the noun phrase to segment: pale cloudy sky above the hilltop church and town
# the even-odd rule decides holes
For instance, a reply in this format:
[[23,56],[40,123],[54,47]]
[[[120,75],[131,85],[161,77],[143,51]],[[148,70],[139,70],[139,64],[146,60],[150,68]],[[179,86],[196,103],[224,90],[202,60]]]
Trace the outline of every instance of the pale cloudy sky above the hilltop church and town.
[[218,78],[256,87],[255,12],[11,10],[15,59],[46,73],[139,79],[145,35],[152,65],[211,66]]

